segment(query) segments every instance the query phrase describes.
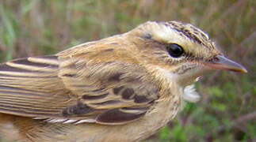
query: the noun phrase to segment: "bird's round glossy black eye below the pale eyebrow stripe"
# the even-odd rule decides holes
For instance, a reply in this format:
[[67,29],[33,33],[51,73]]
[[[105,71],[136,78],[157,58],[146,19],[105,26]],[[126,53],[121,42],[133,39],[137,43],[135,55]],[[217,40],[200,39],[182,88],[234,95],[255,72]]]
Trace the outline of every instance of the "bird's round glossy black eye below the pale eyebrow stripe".
[[175,43],[171,43],[166,47],[166,50],[170,54],[171,57],[178,58],[184,53],[184,50],[181,46]]

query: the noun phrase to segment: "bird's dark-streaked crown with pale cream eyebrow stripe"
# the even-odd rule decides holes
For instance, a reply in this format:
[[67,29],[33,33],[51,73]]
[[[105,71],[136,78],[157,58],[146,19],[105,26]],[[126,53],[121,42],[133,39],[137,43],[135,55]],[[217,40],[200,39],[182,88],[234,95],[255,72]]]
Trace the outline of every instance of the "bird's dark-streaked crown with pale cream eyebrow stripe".
[[222,54],[208,35],[192,24],[178,21],[149,21],[141,24],[138,29],[147,39],[162,44],[176,43],[180,45],[189,57],[207,60],[216,54]]

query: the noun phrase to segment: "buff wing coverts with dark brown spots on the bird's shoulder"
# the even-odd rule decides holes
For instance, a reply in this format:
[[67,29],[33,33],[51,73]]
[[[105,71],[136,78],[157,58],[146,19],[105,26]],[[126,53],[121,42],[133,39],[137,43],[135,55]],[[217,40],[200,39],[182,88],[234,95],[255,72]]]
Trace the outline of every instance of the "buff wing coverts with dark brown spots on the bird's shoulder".
[[[59,77],[67,88],[78,95],[79,103],[94,111],[100,110],[95,118],[97,123],[118,125],[134,121],[150,110],[159,98],[155,84],[143,78],[143,69],[123,62],[87,62],[90,61],[79,58],[64,60],[60,64]],[[77,112],[66,111],[65,114],[82,113],[78,109]]]

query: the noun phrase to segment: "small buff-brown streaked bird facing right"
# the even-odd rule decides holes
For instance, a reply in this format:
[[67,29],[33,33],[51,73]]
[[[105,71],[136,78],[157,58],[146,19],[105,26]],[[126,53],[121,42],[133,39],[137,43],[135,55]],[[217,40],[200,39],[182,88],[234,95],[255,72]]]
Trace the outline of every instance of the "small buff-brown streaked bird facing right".
[[197,102],[208,71],[247,73],[206,32],[147,21],[129,32],[0,65],[0,136],[17,141],[133,142]]

